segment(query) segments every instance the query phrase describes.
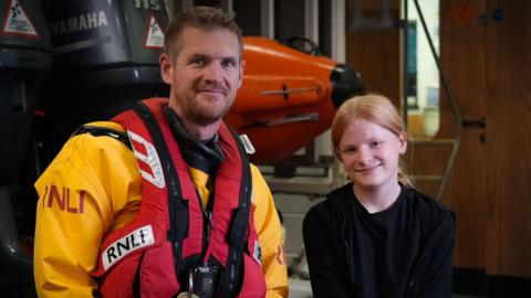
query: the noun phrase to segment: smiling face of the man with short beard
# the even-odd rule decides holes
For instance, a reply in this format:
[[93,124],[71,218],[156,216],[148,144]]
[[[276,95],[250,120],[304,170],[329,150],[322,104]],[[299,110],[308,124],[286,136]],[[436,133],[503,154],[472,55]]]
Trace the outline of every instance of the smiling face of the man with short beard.
[[238,36],[227,29],[186,26],[177,43],[178,53],[160,56],[163,79],[171,85],[171,107],[192,124],[219,121],[232,106],[243,76]]

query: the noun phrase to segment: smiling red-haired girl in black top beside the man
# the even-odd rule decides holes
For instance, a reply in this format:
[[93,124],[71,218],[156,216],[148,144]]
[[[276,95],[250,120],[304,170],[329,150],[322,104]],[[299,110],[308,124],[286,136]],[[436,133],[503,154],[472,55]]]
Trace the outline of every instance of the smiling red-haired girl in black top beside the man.
[[407,134],[393,104],[348,99],[332,142],[351,182],[304,219],[314,297],[450,297],[454,213],[403,172]]

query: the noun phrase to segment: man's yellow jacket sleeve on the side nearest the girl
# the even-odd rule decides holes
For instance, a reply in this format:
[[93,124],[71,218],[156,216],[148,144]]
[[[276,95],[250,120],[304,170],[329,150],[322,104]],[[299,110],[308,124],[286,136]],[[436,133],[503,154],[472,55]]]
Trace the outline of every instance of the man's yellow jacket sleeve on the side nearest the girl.
[[288,297],[288,266],[279,214],[271,191],[258,168],[251,166],[251,173],[254,228],[262,251],[266,297]]

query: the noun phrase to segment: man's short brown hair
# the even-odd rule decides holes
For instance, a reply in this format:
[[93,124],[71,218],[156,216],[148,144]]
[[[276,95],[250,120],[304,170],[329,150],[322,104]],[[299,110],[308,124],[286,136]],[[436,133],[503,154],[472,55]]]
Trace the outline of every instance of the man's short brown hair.
[[[226,13],[214,7],[192,7],[180,17],[175,18],[166,29],[164,52],[175,57],[181,50],[180,38],[186,26],[198,29],[227,29],[238,36],[240,58],[243,53],[243,38],[241,29],[235,20],[235,13]],[[175,56],[174,56],[175,55]]]

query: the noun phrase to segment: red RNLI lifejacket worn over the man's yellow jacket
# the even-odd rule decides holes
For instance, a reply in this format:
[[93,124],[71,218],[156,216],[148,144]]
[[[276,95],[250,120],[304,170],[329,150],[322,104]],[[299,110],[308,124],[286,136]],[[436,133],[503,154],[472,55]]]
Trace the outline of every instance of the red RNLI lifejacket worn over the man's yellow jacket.
[[100,294],[174,297],[188,280],[187,264],[208,260],[221,265],[220,297],[264,297],[244,149],[221,124],[219,146],[225,159],[215,174],[212,228],[205,251],[200,198],[163,113],[167,103],[146,99],[113,118],[126,129],[137,158],[142,201],[135,219],[103,241],[93,274],[100,279]]

